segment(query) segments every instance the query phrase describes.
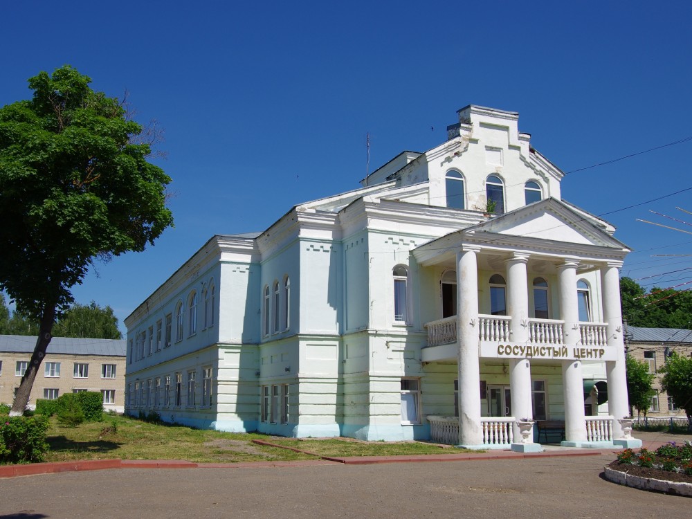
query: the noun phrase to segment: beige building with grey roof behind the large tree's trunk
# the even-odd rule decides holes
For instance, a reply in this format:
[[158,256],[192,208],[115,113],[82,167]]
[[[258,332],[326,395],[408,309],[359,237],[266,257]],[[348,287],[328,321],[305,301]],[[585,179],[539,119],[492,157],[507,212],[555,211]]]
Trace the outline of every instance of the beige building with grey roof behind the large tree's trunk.
[[[12,403],[36,345],[36,337],[0,335],[0,403]],[[61,394],[96,391],[104,410],[122,412],[125,390],[125,340],[53,337],[28,403]]]

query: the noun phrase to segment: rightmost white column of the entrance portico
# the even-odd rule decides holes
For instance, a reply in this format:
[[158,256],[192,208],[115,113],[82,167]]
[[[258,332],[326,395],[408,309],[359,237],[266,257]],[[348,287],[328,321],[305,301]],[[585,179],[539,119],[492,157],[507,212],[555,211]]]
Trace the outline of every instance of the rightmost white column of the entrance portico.
[[603,290],[603,320],[608,323],[608,349],[614,349],[616,360],[605,363],[608,374],[608,414],[615,417],[613,437],[623,437],[619,419],[629,415],[627,399],[627,374],[625,372],[625,344],[623,341],[622,311],[620,307],[621,263],[608,263],[601,268],[601,289]]

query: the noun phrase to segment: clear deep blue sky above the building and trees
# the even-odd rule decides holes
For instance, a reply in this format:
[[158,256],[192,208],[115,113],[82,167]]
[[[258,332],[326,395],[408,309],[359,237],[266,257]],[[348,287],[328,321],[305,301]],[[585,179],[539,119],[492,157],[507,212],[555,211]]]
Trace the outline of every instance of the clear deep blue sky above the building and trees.
[[[295,203],[358,187],[366,131],[371,171],[443,142],[466,104],[518,111],[565,172],[692,136],[689,1],[250,4],[3,5],[0,104],[71,64],[165,127],[175,228],[73,292],[111,305],[121,329],[212,235],[264,230]],[[602,215],[692,188],[691,154],[692,140],[567,174],[563,198]],[[692,221],[675,206],[692,211],[692,190],[605,215],[637,251],[623,273],[658,275],[641,284],[692,280],[661,275],[692,257],[651,257],[692,253],[692,235],[636,221],[692,230],[648,212]]]

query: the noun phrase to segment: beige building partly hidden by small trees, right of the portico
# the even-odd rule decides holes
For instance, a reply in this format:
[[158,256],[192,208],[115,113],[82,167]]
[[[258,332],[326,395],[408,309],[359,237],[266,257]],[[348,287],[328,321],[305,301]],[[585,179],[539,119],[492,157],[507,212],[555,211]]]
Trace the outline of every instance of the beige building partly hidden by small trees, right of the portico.
[[692,356],[692,330],[628,326],[625,337],[628,354],[637,361],[646,363],[649,372],[656,374],[653,380],[653,389],[656,394],[651,397],[648,416],[686,417],[684,410],[678,407],[661,387],[663,373],[660,370],[666,363],[666,357],[672,352],[684,357]]

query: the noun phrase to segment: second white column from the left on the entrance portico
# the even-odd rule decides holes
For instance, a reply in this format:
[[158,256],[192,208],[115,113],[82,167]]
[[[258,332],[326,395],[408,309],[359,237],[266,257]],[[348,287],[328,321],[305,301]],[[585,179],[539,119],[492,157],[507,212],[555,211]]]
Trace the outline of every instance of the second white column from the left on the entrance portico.
[[[511,316],[511,343],[529,342],[529,284],[527,255],[515,254],[507,264],[507,313]],[[527,359],[513,358],[509,362],[509,387],[512,396],[512,415],[517,419],[532,419],[531,365]],[[514,437],[520,438],[519,428],[513,425]]]

